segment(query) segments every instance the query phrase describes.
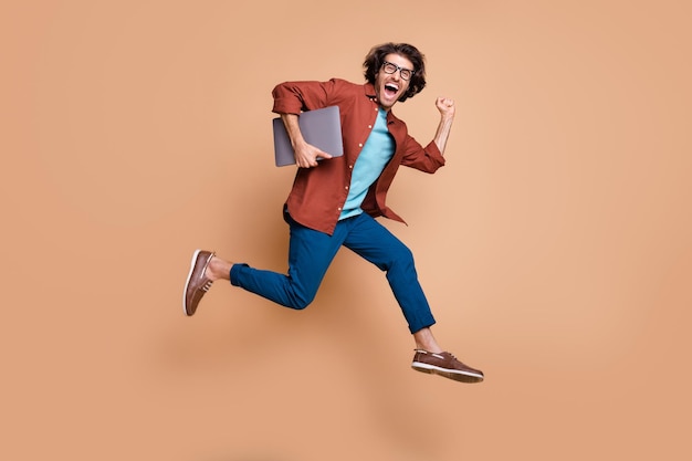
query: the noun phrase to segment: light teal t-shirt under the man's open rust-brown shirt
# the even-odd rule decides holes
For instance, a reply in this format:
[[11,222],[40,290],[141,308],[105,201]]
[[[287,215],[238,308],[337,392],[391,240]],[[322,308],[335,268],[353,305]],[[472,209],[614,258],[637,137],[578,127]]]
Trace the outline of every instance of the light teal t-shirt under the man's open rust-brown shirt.
[[360,205],[368,193],[368,189],[385,169],[387,163],[394,156],[394,138],[387,129],[387,112],[380,107],[375,127],[363,146],[360,155],[354,165],[350,177],[350,187],[346,203],[339,216],[339,220],[360,214]]

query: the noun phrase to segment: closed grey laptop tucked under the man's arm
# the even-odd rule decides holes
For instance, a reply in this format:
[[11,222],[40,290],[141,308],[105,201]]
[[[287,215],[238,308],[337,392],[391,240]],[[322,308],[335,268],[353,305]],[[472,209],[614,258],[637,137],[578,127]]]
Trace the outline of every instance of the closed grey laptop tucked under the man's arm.
[[[277,167],[295,165],[295,156],[286,127],[281,117],[272,119],[274,130],[274,159]],[[338,106],[317,108],[303,112],[298,117],[301,133],[313,146],[331,154],[332,157],[344,155],[344,142],[342,139],[342,119]]]

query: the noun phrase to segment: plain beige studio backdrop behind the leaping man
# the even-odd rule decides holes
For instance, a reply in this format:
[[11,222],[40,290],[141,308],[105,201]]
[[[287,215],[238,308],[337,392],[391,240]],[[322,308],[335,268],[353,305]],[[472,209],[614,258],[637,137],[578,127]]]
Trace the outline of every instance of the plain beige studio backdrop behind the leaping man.
[[[335,3],[336,4],[336,3]],[[7,460],[686,460],[692,33],[684,1],[11,1],[0,7]],[[382,274],[340,253],[301,313],[191,252],[282,271],[271,90],[426,53],[401,171],[465,386],[410,370]]]

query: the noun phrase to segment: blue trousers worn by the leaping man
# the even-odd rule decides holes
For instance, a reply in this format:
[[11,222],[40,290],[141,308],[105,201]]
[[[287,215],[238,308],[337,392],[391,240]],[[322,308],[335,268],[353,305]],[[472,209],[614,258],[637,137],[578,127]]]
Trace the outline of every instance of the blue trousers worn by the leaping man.
[[434,324],[418,282],[413,254],[373,217],[361,213],[344,219],[336,224],[333,235],[301,226],[290,216],[286,220],[291,228],[287,274],[233,264],[231,284],[286,307],[305,308],[315,298],[329,264],[343,245],[387,273],[411,333]]

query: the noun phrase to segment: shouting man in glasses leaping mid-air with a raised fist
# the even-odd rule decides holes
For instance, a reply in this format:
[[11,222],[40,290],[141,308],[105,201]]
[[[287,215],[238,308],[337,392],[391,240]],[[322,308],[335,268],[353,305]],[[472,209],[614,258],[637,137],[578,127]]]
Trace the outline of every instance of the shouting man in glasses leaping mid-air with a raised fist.
[[[387,273],[416,343],[413,369],[463,383],[482,381],[481,370],[462,364],[437,343],[430,331],[436,322],[410,250],[374,219],[381,216],[403,222],[385,203],[400,165],[424,172],[444,165],[442,153],[454,119],[454,102],[437,98],[440,123],[433,140],[422,147],[391,108],[426,86],[423,55],[410,44],[386,43],[370,50],[364,66],[365,84],[338,78],[286,82],[273,91],[273,112],[283,119],[298,167],[284,207],[291,230],[287,274],[234,264],[197,250],[184,292],[185,312],[195,314],[205,293],[220,279],[286,307],[305,308],[343,245]],[[332,158],[305,142],[297,121],[303,111],[334,105],[342,114],[344,155]]]

